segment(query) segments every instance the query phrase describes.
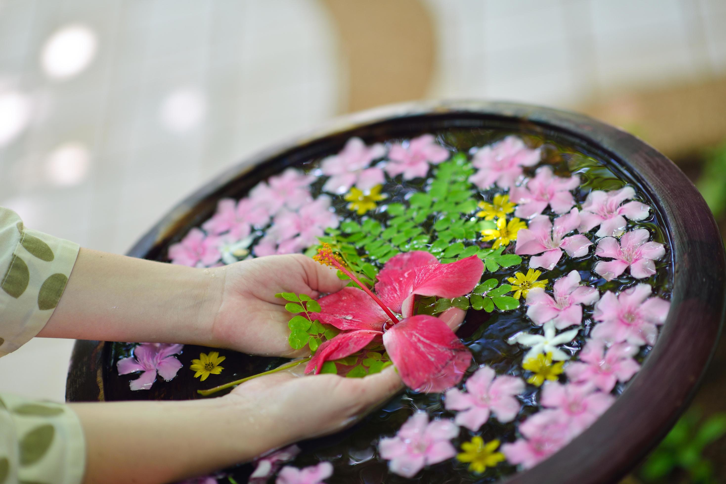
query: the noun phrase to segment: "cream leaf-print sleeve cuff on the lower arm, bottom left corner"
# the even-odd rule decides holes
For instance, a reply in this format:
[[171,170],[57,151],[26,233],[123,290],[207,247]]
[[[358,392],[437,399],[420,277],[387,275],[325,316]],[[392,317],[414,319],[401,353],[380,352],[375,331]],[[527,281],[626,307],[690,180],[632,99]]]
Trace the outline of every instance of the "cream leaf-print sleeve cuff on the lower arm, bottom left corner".
[[0,394],[0,483],[79,484],[85,469],[83,428],[70,407]]

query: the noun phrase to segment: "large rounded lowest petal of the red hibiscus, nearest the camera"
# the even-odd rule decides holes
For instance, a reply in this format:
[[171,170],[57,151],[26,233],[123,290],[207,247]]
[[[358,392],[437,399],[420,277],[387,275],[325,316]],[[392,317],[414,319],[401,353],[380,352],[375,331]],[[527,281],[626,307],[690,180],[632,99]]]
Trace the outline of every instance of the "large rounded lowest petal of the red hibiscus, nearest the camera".
[[[335,338],[333,338],[335,340]],[[461,381],[471,353],[439,318],[420,314],[383,334],[391,361],[412,390],[441,392]]]

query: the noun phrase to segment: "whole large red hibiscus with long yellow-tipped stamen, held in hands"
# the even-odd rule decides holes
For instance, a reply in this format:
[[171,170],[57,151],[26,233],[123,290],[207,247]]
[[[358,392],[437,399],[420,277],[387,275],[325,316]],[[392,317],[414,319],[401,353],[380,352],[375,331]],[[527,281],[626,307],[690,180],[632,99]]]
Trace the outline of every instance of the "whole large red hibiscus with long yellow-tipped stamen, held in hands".
[[[345,287],[318,300],[321,312],[311,316],[343,332],[319,346],[306,372],[319,373],[325,361],[345,358],[382,339],[401,380],[413,390],[441,392],[460,382],[471,353],[441,319],[412,316],[413,303],[415,295],[457,298],[473,290],[484,272],[480,258],[442,264],[420,250],[395,255],[378,273],[378,295],[358,282],[330,247],[324,245],[316,258],[364,289]],[[404,319],[399,321],[394,312]]]

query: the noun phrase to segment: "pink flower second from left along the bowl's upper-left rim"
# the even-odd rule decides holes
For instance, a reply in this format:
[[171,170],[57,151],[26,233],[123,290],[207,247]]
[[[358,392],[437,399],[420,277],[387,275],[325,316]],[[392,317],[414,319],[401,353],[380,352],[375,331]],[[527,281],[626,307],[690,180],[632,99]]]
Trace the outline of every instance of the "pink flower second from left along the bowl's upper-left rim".
[[266,226],[269,219],[267,210],[249,198],[239,202],[223,198],[217,202],[214,216],[203,223],[202,228],[212,235],[229,232],[230,237],[240,240],[250,234],[253,226]]

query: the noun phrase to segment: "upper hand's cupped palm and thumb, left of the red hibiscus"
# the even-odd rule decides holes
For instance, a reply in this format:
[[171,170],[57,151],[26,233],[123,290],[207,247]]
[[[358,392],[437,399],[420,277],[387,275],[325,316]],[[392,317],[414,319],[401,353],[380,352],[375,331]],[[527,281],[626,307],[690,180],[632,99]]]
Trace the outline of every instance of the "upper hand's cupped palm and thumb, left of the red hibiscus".
[[219,311],[212,325],[216,345],[264,356],[305,356],[308,348],[290,348],[286,300],[278,292],[306,294],[313,299],[336,292],[347,282],[335,269],[301,254],[271,255],[214,269],[224,279]]

